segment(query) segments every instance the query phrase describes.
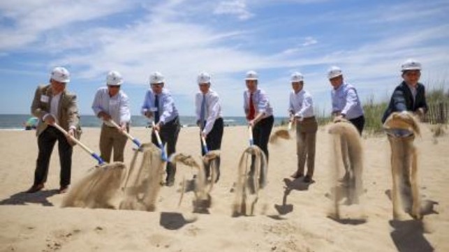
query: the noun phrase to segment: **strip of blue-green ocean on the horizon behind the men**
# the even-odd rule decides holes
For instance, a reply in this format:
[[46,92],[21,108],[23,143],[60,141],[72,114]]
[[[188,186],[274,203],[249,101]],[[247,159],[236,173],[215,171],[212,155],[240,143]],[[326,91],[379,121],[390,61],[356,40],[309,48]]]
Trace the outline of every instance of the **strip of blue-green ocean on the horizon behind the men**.
[[[24,123],[30,118],[29,114],[0,114],[0,129],[24,129]],[[196,126],[196,117],[181,116],[179,117],[182,126]],[[225,126],[241,126],[246,125],[245,117],[224,117]],[[286,117],[274,119],[274,124],[279,125],[281,121],[288,120]],[[131,116],[131,126],[146,127],[150,121],[141,115]],[[101,120],[94,115],[81,115],[80,124],[82,127],[100,127]]]

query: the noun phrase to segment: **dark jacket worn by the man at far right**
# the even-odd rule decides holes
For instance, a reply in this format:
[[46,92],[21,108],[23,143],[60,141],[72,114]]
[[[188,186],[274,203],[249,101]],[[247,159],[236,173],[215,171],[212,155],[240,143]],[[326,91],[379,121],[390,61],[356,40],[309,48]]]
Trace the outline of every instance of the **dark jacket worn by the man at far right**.
[[424,85],[419,83],[416,85],[416,97],[413,102],[413,96],[406,82],[402,82],[396,87],[388,104],[387,110],[383,113],[382,123],[390,116],[392,112],[411,111],[415,112],[418,108],[423,108],[427,112],[427,102],[425,98]]

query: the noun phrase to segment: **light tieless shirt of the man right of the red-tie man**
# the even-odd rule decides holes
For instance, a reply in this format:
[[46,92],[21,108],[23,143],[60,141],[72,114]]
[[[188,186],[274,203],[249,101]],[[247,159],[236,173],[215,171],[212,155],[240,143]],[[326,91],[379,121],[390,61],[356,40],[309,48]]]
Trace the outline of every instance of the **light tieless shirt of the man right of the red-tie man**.
[[314,116],[314,101],[309,92],[301,89],[301,91],[295,93],[290,92],[290,106],[288,111],[295,117],[308,118]]

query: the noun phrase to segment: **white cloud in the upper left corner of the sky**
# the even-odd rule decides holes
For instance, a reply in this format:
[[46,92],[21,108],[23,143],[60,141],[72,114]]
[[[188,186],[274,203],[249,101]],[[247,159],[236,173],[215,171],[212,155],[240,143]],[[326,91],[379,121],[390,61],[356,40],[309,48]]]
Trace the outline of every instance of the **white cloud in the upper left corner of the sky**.
[[132,6],[132,1],[120,0],[1,1],[0,14],[11,24],[0,26],[0,50],[21,48],[36,42],[45,31],[96,20]]

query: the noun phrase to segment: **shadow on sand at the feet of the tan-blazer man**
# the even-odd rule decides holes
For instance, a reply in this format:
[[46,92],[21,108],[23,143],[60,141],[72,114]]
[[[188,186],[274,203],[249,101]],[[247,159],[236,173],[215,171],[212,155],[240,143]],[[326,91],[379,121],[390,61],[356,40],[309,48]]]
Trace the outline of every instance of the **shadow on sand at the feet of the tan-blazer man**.
[[57,194],[57,189],[38,191],[36,193],[15,193],[9,198],[1,200],[0,205],[27,205],[27,203],[41,204],[45,207],[52,207],[52,202],[48,198]]

